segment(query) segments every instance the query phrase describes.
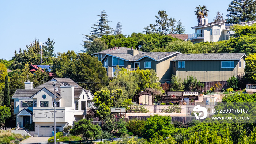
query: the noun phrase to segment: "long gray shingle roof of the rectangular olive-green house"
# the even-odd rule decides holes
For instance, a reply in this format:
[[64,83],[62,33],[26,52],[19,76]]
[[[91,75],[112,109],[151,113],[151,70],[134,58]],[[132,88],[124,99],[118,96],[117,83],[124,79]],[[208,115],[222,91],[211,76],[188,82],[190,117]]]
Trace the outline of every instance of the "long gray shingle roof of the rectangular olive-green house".
[[245,53],[178,54],[173,61],[181,60],[240,60]]

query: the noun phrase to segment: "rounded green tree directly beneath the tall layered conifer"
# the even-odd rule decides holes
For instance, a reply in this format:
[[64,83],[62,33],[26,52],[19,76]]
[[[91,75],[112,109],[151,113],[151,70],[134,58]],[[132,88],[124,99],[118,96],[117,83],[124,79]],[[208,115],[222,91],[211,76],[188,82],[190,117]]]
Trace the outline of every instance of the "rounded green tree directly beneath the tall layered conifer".
[[86,48],[86,50],[82,51],[90,55],[108,49],[108,45],[106,45],[105,42],[99,38],[93,39],[92,42],[84,41],[83,47]]

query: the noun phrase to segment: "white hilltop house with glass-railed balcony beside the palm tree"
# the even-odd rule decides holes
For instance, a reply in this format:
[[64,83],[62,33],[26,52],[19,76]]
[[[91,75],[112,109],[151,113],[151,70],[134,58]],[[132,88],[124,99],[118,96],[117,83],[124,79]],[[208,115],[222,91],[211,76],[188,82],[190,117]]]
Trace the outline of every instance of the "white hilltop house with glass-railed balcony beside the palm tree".
[[[191,27],[192,29],[195,29],[195,33],[189,34],[188,39],[195,43],[228,40],[235,34],[230,28],[234,24],[227,24],[225,22],[225,20],[222,20],[209,23],[207,18],[202,18],[199,26]],[[253,23],[256,23],[256,21],[240,22],[238,24],[241,26],[252,26]]]

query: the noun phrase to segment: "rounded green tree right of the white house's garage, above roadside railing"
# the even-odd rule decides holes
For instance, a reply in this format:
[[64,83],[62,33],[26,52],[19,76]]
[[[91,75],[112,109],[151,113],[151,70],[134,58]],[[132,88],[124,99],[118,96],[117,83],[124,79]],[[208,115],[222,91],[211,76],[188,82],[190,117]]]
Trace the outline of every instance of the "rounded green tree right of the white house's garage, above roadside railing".
[[101,134],[101,127],[93,125],[90,120],[81,119],[75,122],[73,128],[70,130],[71,134],[80,135],[82,134],[86,140],[97,139]]

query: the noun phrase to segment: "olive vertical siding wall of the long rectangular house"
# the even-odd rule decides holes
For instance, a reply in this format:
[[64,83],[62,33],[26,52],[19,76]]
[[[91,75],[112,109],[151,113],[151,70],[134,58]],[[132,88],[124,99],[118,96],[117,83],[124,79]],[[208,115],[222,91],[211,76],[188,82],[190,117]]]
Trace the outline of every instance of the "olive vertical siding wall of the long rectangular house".
[[[238,75],[238,61],[235,61],[234,65],[235,68],[221,68],[221,61],[185,61],[185,68],[178,68],[177,63],[176,73],[181,79],[193,75],[200,82],[226,81]],[[240,73],[243,73],[244,68],[240,70]]]

